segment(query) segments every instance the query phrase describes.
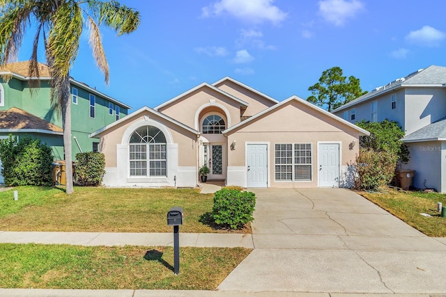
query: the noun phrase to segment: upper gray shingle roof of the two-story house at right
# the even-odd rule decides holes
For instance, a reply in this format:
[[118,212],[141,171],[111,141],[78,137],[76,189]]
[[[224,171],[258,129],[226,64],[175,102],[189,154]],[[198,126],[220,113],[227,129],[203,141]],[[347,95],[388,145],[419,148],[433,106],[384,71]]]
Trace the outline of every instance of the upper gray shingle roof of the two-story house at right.
[[408,74],[406,77],[401,77],[401,79],[395,79],[394,81],[387,83],[385,86],[380,86],[375,88],[371,92],[362,95],[361,97],[357,97],[351,102],[344,104],[343,106],[334,109],[334,112],[341,111],[343,109],[348,109],[355,104],[360,102],[364,102],[367,99],[371,99],[382,95],[384,93],[388,93],[397,88],[401,87],[412,87],[412,86],[438,86],[444,87],[446,86],[446,67],[431,65],[425,69],[420,69],[415,72]]

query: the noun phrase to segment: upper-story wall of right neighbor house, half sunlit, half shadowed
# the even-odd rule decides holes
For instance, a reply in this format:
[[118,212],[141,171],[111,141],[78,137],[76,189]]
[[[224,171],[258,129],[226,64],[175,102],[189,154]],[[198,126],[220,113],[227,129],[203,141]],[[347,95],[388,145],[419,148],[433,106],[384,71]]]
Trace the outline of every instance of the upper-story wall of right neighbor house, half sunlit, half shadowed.
[[445,117],[445,88],[406,88],[406,134]]

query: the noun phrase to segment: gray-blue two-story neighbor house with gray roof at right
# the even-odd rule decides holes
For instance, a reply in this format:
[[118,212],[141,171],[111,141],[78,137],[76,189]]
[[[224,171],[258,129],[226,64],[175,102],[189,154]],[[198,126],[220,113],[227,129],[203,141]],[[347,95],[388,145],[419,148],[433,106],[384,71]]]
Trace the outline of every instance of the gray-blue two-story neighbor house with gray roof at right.
[[380,86],[332,111],[351,123],[399,123],[410,161],[401,169],[416,170],[413,186],[446,193],[446,67],[429,66]]

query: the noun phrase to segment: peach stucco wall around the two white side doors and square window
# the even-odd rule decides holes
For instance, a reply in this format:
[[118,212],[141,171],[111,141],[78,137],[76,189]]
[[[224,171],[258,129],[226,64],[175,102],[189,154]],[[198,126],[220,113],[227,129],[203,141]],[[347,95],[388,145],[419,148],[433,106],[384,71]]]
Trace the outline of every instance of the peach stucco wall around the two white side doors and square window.
[[[322,115],[307,106],[292,102],[276,109],[274,113],[256,119],[246,127],[231,131],[228,135],[228,184],[240,180],[239,186],[247,185],[246,143],[265,143],[269,145],[268,152],[268,186],[304,188],[318,186],[318,143],[339,143],[340,186],[347,184],[346,176],[350,165],[358,153],[359,134],[352,127]],[[231,143],[236,141],[236,150],[231,150]],[[353,150],[350,143],[355,141]],[[282,182],[275,181],[275,144],[276,143],[311,143],[312,144],[312,181]],[[231,173],[233,171],[233,173]],[[245,172],[243,172],[245,171]],[[237,178],[231,178],[237,175]],[[243,176],[242,176],[243,175]],[[241,184],[243,183],[243,184]]]

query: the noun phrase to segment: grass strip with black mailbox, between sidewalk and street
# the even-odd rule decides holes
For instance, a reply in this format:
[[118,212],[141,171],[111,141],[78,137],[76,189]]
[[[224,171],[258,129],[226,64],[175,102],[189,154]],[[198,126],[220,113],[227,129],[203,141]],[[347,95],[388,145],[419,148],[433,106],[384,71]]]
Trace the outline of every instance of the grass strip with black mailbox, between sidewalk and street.
[[251,250],[0,243],[0,287],[214,290]]

